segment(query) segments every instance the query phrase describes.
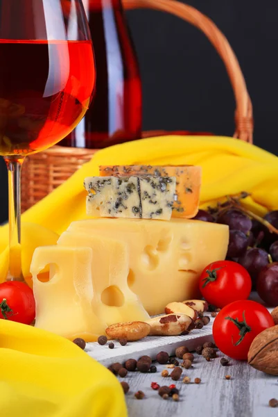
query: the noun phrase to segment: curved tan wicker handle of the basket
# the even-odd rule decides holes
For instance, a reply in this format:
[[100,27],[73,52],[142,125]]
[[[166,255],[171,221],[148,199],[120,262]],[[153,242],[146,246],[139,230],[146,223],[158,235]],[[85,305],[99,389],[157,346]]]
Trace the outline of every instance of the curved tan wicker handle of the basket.
[[234,90],[236,99],[236,131],[234,132],[234,138],[252,143],[254,129],[252,102],[236,55],[227,38],[225,38],[225,35],[218,29],[216,24],[209,17],[196,10],[196,8],[175,0],[123,0],[123,6],[127,10],[150,8],[171,13],[193,24],[193,26],[196,26],[207,35],[207,38],[214,45],[225,64]]

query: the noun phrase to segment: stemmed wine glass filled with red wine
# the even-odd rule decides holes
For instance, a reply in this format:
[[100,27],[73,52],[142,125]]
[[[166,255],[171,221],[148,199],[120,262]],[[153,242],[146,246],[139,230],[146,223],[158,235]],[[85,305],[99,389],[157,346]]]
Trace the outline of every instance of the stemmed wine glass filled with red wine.
[[[26,155],[67,136],[96,83],[82,0],[0,0],[0,155],[8,168],[8,280],[21,272],[20,174]],[[59,208],[57,208],[59,209]]]

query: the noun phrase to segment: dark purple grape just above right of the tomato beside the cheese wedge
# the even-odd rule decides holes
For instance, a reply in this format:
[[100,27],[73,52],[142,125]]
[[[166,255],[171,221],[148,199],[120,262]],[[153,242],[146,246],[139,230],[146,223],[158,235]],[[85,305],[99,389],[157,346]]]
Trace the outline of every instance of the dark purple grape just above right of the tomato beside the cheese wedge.
[[252,278],[253,288],[256,288],[257,278],[261,270],[268,265],[268,252],[259,247],[251,247],[247,249],[245,254],[238,258],[245,270],[247,270]]

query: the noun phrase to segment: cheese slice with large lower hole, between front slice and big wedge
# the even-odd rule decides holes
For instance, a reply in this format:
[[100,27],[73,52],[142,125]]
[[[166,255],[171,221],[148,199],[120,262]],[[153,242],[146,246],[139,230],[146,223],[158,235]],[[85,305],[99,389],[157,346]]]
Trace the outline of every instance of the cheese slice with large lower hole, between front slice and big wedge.
[[[113,236],[114,237],[114,236]],[[148,313],[128,287],[128,245],[107,236],[87,231],[65,231],[58,245],[89,247],[93,253],[92,310],[108,326],[117,322],[148,320]]]

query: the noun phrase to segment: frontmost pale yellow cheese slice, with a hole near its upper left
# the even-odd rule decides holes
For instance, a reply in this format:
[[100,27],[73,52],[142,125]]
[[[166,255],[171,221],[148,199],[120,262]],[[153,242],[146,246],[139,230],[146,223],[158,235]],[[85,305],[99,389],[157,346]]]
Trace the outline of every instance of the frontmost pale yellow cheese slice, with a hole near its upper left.
[[[37,279],[46,265],[50,279]],[[92,249],[89,247],[38,247],[33,255],[31,273],[36,300],[35,327],[71,340],[81,337],[96,341],[105,334],[106,323],[92,309]]]

